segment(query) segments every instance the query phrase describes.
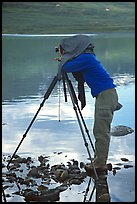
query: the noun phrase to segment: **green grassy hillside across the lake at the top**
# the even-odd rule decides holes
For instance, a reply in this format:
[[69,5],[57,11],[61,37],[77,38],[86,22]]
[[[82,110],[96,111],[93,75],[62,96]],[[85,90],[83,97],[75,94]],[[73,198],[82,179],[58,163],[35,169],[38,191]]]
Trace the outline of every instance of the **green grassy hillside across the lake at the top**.
[[133,32],[135,2],[3,2],[2,33]]

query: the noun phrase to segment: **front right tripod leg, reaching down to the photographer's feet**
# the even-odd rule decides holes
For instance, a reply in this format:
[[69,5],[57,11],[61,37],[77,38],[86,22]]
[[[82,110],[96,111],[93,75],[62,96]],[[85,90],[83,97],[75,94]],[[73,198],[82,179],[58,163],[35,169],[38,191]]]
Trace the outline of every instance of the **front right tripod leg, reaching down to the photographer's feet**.
[[89,151],[88,143],[86,141],[86,137],[85,137],[85,134],[84,134],[84,131],[83,131],[83,128],[82,128],[82,124],[81,124],[81,121],[80,121],[80,118],[79,118],[79,115],[78,115],[78,111],[77,111],[77,106],[78,106],[77,97],[76,97],[75,91],[73,89],[73,86],[72,86],[71,81],[69,80],[67,74],[64,74],[64,77],[65,77],[65,80],[66,80],[66,83],[67,83],[68,91],[70,93],[70,97],[71,97],[71,101],[72,101],[72,104],[73,104],[73,108],[75,110],[75,113],[76,113],[76,116],[77,116],[77,119],[78,119],[78,124],[79,124],[80,130],[81,130],[82,136],[83,136],[85,147],[87,148],[87,152],[88,152],[91,164],[93,166],[93,170],[94,170],[94,173],[95,173],[96,180],[98,180],[98,175],[97,175],[94,163],[92,162],[92,157],[91,157],[91,154],[90,154],[90,151]]

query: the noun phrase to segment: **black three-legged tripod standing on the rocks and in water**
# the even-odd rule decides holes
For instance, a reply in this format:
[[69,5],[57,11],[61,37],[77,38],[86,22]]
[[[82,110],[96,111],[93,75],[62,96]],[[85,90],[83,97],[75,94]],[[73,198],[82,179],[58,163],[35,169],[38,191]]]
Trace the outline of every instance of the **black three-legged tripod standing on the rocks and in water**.
[[[7,168],[9,168],[9,165],[10,165],[12,159],[14,158],[14,156],[15,156],[16,152],[18,151],[20,145],[22,144],[24,138],[27,136],[28,131],[30,130],[30,128],[31,128],[31,126],[32,126],[32,124],[33,124],[33,122],[35,121],[35,119],[36,119],[38,113],[40,112],[41,108],[43,107],[45,101],[46,101],[46,100],[48,99],[48,97],[50,96],[50,94],[51,94],[52,90],[54,89],[54,87],[55,87],[56,83],[58,82],[58,80],[59,80],[59,79],[58,79],[58,75],[56,75],[56,76],[53,78],[53,80],[52,80],[52,82],[51,82],[51,84],[50,84],[48,90],[46,91],[46,93],[45,93],[45,95],[44,95],[44,99],[43,99],[43,101],[41,102],[41,104],[40,104],[40,106],[39,106],[39,108],[38,108],[36,114],[34,115],[32,121],[30,122],[30,124],[29,124],[29,126],[28,126],[28,128],[26,129],[25,133],[23,134],[23,137],[22,137],[20,143],[18,144],[18,146],[17,146],[15,152],[13,153],[11,159],[9,160],[8,165],[7,165]],[[86,131],[86,133],[87,133],[87,135],[88,135],[90,144],[91,144],[91,146],[92,146],[94,152],[95,152],[95,149],[94,149],[93,143],[92,143],[92,141],[91,141],[91,138],[90,138],[89,131],[88,131],[88,129],[87,129],[86,123],[85,123],[85,121],[84,121],[84,119],[83,119],[81,110],[80,110],[80,108],[79,108],[78,100],[77,100],[77,96],[76,96],[76,94],[75,94],[74,88],[73,88],[72,83],[71,83],[71,81],[70,81],[70,79],[68,78],[68,75],[67,75],[66,73],[63,73],[63,72],[61,73],[61,79],[60,79],[60,80],[63,81],[64,94],[65,94],[65,102],[67,102],[67,96],[66,96],[66,84],[67,84],[67,88],[68,88],[68,91],[69,91],[69,94],[70,94],[70,97],[71,97],[71,101],[72,101],[72,104],[73,104],[73,108],[74,108],[74,110],[75,110],[76,117],[77,117],[77,120],[78,120],[78,124],[79,124],[80,130],[81,130],[82,136],[83,136],[84,144],[85,144],[85,147],[87,148],[87,152],[88,152],[88,155],[89,155],[89,159],[90,159],[90,161],[91,161],[91,164],[93,165],[93,170],[94,170],[94,173],[95,173],[95,176],[96,176],[96,180],[98,180],[98,175],[97,175],[96,169],[95,169],[95,167],[94,167],[94,164],[93,164],[93,162],[92,162],[92,157],[91,157],[91,153],[90,153],[90,150],[89,150],[89,147],[88,147],[88,143],[87,143],[87,140],[86,140],[86,137],[85,137],[85,134],[84,134],[83,126],[84,126],[85,131]],[[81,119],[81,120],[80,120],[80,119]],[[82,122],[81,122],[81,121],[82,121]],[[82,123],[83,123],[83,126],[82,126]]]

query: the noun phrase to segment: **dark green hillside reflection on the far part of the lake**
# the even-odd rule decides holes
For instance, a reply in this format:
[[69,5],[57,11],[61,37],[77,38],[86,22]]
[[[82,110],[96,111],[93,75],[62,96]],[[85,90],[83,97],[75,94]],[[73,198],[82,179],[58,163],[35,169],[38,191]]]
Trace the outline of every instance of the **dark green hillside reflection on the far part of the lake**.
[[[62,37],[2,37],[2,97],[14,100],[20,96],[39,95],[57,73],[55,46]],[[134,34],[91,36],[95,52],[108,72],[134,75]],[[73,82],[75,82],[73,80]],[[55,88],[57,92],[57,89]]]

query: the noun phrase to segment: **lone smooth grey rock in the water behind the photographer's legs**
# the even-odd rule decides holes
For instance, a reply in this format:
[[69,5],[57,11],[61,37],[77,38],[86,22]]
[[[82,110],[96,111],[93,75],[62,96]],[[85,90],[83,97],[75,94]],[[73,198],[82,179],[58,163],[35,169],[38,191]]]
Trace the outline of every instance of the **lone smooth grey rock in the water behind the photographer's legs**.
[[134,130],[128,126],[118,125],[111,128],[110,134],[112,136],[124,136],[127,134],[131,134]]

